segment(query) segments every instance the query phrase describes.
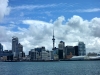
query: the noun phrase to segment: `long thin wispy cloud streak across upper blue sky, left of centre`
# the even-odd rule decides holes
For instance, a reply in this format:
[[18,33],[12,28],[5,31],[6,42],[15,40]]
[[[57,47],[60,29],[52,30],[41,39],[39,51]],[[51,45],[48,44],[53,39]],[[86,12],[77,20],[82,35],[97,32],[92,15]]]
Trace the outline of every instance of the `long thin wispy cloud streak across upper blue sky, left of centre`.
[[15,6],[12,7],[12,9],[18,9],[18,10],[32,10],[32,9],[40,9],[40,8],[55,8],[55,7],[74,7],[77,5],[77,3],[69,4],[69,3],[54,3],[54,4],[34,4],[34,5],[21,5],[21,6]]

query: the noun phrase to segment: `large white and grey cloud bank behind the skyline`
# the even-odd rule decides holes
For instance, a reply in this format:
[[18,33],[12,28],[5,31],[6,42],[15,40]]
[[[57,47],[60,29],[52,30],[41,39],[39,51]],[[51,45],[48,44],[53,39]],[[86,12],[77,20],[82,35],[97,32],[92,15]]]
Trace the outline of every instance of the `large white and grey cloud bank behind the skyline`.
[[[55,42],[58,47],[59,41],[64,41],[66,45],[77,45],[78,41],[86,44],[87,52],[100,51],[100,18],[93,18],[90,21],[84,20],[78,15],[74,15],[68,20],[64,16],[58,17],[55,21],[44,22],[39,20],[23,20],[24,25],[28,28],[18,27],[19,31],[6,30],[1,28],[2,39],[0,40],[5,49],[8,48],[8,42],[11,44],[11,37],[17,36],[19,42],[24,46],[24,51],[28,53],[30,49],[45,46],[46,49],[52,49],[52,31],[55,31]],[[6,33],[6,34],[4,34]],[[8,37],[7,43],[5,38]]]

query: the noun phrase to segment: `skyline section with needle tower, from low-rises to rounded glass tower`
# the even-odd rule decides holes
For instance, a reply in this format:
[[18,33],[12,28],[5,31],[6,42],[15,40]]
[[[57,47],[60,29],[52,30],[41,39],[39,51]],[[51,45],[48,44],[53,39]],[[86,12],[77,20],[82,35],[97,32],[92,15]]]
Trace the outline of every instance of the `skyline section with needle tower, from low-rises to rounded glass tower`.
[[79,42],[77,46],[65,46],[65,42],[60,41],[58,48],[55,47],[55,36],[53,30],[53,48],[46,50],[45,47],[34,48],[29,51],[31,61],[35,60],[66,60],[73,56],[86,55],[86,48],[84,42]]

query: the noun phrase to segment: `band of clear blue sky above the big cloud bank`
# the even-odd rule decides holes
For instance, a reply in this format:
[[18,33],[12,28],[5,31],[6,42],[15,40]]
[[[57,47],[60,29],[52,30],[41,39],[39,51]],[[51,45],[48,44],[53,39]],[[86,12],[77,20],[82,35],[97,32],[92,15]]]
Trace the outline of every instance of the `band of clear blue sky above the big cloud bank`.
[[87,20],[100,17],[99,0],[10,0],[8,5],[11,7],[11,12],[4,18],[4,22],[7,23],[20,22],[23,19],[49,22],[62,15],[66,19],[73,15],[79,15]]

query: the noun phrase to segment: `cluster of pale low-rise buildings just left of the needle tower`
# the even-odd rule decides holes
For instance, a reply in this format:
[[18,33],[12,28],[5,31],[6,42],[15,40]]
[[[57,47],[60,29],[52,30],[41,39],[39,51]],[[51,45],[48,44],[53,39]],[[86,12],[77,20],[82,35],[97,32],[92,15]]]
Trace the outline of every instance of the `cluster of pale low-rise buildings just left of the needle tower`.
[[45,47],[31,49],[29,51],[30,60],[51,60],[51,51],[46,51]]

